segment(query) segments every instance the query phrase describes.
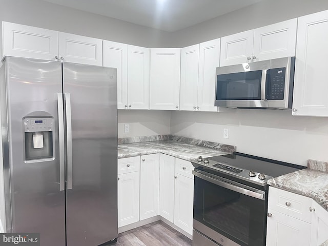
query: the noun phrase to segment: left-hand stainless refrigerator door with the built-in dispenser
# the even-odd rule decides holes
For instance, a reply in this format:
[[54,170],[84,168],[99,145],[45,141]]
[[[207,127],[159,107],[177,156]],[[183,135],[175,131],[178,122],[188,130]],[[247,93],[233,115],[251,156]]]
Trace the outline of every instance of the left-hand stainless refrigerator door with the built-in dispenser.
[[[7,155],[10,167],[12,231],[40,233],[42,245],[65,245],[65,191],[60,191],[57,106],[57,93],[62,92],[61,64],[6,57],[6,76],[8,149],[4,157]],[[38,117],[40,120],[35,121]],[[39,134],[44,134],[43,140],[49,140],[50,146],[44,142],[44,148],[33,149],[32,141],[26,143],[29,132],[25,133],[25,124],[32,118],[31,128],[39,127]],[[44,119],[51,119],[52,132],[42,133]],[[52,155],[27,160],[28,148],[36,152],[48,148]]]

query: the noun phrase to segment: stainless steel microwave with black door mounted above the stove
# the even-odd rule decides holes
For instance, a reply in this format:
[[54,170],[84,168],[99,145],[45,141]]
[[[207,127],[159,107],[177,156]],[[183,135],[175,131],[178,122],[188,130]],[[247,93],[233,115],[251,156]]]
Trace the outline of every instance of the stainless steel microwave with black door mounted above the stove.
[[295,57],[216,68],[215,106],[291,109]]

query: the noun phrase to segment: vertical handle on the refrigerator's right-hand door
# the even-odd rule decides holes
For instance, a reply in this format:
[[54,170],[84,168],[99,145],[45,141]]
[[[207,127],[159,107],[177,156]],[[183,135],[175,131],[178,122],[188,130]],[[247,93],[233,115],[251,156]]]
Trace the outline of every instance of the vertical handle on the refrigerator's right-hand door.
[[67,136],[67,189],[72,189],[72,116],[71,116],[71,95],[65,93],[66,109],[66,136]]

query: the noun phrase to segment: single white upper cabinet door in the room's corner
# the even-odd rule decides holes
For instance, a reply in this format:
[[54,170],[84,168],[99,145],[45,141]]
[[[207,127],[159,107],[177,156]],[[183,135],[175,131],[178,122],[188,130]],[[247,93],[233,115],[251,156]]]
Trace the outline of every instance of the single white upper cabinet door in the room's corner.
[[180,51],[150,50],[150,109],[179,109]]

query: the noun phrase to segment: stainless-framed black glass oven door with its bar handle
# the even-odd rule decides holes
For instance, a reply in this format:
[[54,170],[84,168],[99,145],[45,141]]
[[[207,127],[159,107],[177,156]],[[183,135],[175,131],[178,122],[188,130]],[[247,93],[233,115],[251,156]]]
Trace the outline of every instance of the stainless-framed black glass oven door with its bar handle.
[[224,245],[265,245],[266,193],[203,171],[193,171],[195,230]]

